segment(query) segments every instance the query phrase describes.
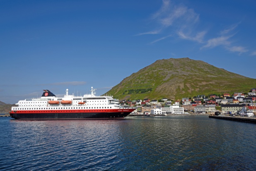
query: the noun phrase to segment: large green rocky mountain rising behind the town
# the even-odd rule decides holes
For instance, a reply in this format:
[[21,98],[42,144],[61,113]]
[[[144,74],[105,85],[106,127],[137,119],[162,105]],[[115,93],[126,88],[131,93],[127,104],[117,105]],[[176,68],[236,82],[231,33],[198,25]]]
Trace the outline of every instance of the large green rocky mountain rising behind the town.
[[182,99],[199,94],[249,92],[256,79],[201,60],[162,59],[126,77],[107,94],[116,99]]

